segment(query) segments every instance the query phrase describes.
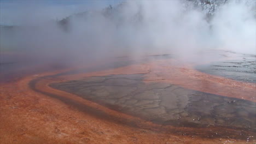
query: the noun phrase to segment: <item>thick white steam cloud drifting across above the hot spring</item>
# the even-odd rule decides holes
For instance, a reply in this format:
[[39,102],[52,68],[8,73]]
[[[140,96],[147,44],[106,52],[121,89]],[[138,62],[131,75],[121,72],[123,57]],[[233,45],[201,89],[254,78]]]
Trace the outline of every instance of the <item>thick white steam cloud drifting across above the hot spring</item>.
[[186,58],[212,49],[255,55],[255,1],[248,2],[230,1],[207,16],[188,1],[127,1],[69,16],[67,23],[46,19],[65,10],[43,11],[37,4],[17,19],[19,27],[1,28],[0,46],[36,61],[70,64],[166,53]]

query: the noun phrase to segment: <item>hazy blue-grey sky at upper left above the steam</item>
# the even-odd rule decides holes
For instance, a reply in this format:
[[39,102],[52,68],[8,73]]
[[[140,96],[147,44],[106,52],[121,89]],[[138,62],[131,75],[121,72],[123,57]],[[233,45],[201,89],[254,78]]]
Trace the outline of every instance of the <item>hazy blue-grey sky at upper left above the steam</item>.
[[[85,10],[102,9],[124,0],[0,0],[0,25],[19,25],[28,17],[56,20]],[[32,17],[33,16],[33,17]]]

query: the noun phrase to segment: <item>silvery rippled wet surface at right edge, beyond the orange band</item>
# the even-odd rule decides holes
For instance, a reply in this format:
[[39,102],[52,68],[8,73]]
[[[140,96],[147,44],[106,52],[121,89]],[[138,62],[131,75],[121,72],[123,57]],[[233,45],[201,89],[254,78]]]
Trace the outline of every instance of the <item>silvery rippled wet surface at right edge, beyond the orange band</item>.
[[235,53],[235,55],[239,59],[198,65],[196,69],[203,73],[223,76],[228,79],[256,83],[256,57],[240,53]]

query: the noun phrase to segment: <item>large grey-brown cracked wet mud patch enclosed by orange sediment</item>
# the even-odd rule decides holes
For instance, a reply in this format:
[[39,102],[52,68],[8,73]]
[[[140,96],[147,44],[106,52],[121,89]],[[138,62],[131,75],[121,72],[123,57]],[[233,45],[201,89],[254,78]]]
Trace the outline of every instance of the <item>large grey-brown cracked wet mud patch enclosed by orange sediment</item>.
[[256,130],[256,104],[252,101],[170,83],[144,83],[143,79],[143,74],[92,76],[51,83],[50,87],[158,124]]

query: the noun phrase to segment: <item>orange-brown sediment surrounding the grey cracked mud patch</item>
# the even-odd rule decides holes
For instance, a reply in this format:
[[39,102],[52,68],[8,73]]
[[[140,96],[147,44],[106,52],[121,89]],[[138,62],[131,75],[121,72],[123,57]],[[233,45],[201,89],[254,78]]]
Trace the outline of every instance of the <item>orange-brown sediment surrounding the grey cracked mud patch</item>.
[[[49,87],[90,76],[144,74],[144,82],[164,82],[225,97],[255,102],[255,84],[237,82],[176,65],[173,59],[85,74],[63,71],[27,76],[1,85],[0,141],[2,143],[254,143],[252,131],[176,128],[120,113],[77,95]],[[67,70],[69,71],[69,70]],[[216,91],[218,89],[218,91]],[[241,95],[243,95],[241,97]],[[229,137],[212,136],[229,131]],[[239,136],[246,134],[247,138]],[[208,136],[208,137],[207,137]],[[237,137],[237,139],[236,139]],[[241,138],[240,138],[241,137]]]

